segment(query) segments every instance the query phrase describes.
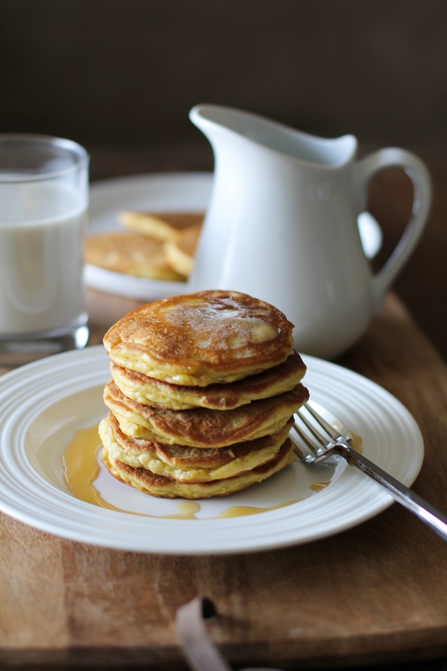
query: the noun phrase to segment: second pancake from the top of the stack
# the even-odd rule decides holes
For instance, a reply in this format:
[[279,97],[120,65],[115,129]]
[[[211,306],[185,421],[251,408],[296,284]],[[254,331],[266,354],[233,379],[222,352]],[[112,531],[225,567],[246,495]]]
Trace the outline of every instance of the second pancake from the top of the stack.
[[122,393],[142,405],[188,410],[208,407],[212,410],[232,410],[240,405],[270,398],[291,391],[305,375],[306,366],[297,352],[292,352],[284,363],[264,370],[263,373],[244,377],[229,384],[210,384],[207,387],[185,387],[147,377],[129,368],[110,363],[110,373]]

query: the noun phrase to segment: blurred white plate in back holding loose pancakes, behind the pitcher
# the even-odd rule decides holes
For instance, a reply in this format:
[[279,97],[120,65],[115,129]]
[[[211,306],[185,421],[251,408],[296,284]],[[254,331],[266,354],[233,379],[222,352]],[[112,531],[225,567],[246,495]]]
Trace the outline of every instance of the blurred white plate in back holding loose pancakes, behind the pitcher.
[[[211,187],[212,173],[161,173],[94,182],[90,187],[89,232],[93,235],[123,230],[117,217],[119,210],[205,212]],[[380,226],[369,212],[359,215],[358,226],[365,254],[372,259],[382,244]],[[189,290],[187,282],[146,280],[89,264],[85,268],[85,281],[94,289],[142,301],[185,294]]]

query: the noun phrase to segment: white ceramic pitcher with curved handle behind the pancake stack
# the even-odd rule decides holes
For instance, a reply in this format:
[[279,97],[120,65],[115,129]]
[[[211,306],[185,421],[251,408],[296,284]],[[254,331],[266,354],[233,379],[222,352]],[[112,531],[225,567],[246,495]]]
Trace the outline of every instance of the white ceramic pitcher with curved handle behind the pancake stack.
[[[295,324],[295,348],[332,359],[365,332],[427,221],[430,176],[413,154],[388,147],[356,160],[357,140],[327,140],[216,105],[190,118],[210,140],[214,178],[189,289],[261,298]],[[372,275],[358,231],[367,185],[386,166],[413,182],[413,214]]]

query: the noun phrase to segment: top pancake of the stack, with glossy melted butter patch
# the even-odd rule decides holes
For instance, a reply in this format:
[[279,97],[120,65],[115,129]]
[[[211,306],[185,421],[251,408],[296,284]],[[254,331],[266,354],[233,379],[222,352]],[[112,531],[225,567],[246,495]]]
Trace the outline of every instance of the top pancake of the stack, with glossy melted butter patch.
[[103,342],[117,366],[206,387],[279,365],[293,349],[292,330],[269,303],[236,291],[198,291],[132,310]]

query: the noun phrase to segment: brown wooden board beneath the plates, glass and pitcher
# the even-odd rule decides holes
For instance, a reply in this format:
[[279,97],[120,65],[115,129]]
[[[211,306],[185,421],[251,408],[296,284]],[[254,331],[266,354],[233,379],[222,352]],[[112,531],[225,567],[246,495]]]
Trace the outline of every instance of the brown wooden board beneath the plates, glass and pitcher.
[[[137,304],[89,291],[90,344]],[[339,363],[416,418],[426,456],[414,489],[447,511],[447,368],[394,295]],[[210,633],[234,668],[447,654],[447,545],[397,504],[335,537],[254,555],[114,551],[6,516],[0,531],[1,668],[183,669],[175,612],[198,593],[217,605]]]

